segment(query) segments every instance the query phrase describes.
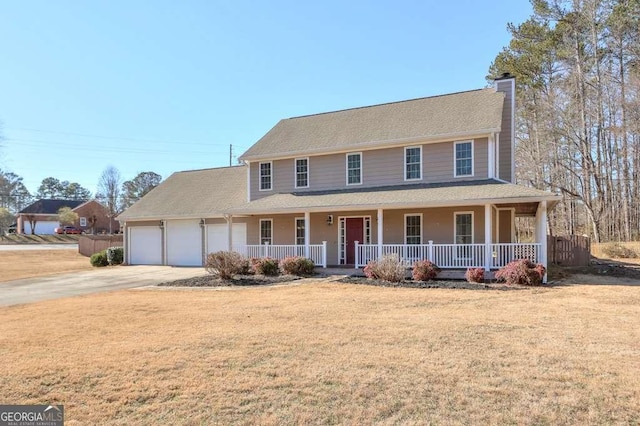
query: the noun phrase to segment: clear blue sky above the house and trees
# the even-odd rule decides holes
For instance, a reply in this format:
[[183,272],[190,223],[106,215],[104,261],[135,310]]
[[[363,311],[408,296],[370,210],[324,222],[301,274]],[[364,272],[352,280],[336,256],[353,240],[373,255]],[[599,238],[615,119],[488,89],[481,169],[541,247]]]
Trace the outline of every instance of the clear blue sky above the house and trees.
[[[0,168],[92,192],[220,167],[278,120],[476,89],[528,0],[0,0]],[[234,158],[234,163],[235,163]]]

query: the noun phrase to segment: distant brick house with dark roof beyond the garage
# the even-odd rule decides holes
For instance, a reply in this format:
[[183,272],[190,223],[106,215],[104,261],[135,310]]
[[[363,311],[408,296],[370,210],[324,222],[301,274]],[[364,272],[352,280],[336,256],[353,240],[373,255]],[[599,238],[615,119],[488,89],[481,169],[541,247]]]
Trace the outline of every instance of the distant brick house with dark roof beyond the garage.
[[112,232],[120,230],[119,222],[110,219],[107,208],[96,200],[40,199],[18,212],[17,233],[54,234],[55,228],[60,226],[58,211],[63,207],[69,207],[78,214],[73,225],[86,233],[108,233],[109,222]]

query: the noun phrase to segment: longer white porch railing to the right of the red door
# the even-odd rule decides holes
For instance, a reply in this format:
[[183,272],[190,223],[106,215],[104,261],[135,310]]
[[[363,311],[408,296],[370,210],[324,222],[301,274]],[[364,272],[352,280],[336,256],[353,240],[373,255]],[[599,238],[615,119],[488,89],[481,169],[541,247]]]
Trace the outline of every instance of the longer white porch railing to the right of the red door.
[[[490,260],[487,256],[489,250]],[[418,260],[430,260],[441,269],[498,269],[517,259],[540,262],[541,244],[383,244],[382,255],[396,254],[407,267]],[[355,267],[378,259],[377,244],[355,243]]]

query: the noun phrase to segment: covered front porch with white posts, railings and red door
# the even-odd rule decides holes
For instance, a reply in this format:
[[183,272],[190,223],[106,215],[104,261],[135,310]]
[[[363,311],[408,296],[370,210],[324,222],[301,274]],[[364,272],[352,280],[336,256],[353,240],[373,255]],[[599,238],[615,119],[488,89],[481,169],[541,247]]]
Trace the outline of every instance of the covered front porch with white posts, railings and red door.
[[[516,215],[535,216],[535,242],[515,241]],[[426,259],[441,269],[490,271],[523,258],[546,266],[546,215],[546,201],[256,215],[245,219],[247,244],[233,249],[248,257],[304,256],[322,267],[361,268],[389,254],[407,267]]]

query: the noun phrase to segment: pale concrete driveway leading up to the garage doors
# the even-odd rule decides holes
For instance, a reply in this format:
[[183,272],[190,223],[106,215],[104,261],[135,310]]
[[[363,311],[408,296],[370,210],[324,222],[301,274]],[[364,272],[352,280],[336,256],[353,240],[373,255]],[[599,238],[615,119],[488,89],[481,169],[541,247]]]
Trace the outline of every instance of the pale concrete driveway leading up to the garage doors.
[[116,266],[93,271],[0,282],[0,306],[144,287],[206,274],[201,267]]

